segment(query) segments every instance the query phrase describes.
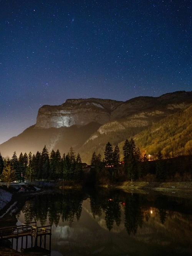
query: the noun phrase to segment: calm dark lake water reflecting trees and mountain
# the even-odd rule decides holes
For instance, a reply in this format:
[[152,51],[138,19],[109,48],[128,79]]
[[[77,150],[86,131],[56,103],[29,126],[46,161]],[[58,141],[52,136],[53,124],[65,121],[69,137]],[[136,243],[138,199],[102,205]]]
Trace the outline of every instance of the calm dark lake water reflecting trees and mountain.
[[192,255],[190,199],[60,191],[30,199],[17,218],[52,225],[51,256]]

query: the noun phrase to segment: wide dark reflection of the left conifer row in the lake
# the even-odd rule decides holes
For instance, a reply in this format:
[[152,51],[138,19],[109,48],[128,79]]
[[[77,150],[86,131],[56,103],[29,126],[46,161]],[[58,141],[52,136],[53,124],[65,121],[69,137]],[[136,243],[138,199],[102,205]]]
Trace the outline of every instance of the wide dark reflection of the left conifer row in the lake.
[[36,196],[25,204],[23,212],[25,222],[40,221],[41,225],[49,219],[50,224],[57,226],[60,218],[73,222],[81,216],[83,196],[81,193],[47,194]]

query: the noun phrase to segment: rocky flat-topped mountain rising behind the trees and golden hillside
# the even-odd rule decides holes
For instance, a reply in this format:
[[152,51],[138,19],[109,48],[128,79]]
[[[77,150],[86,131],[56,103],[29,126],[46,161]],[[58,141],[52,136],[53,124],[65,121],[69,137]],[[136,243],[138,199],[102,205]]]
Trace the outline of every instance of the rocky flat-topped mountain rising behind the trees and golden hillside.
[[142,139],[145,136],[142,132],[157,129],[153,127],[158,126],[160,120],[165,122],[165,127],[169,126],[170,117],[177,113],[182,115],[179,113],[185,113],[191,104],[192,91],[176,91],[127,101],[89,98],[69,99],[59,106],[45,105],[38,111],[36,124],[2,143],[0,152],[4,157],[11,157],[14,151],[18,155],[36,153],[46,145],[49,151],[59,149],[62,154],[72,146],[82,160],[89,163],[93,151],[103,153],[108,141],[114,146],[121,145],[126,138],[134,136],[138,137],[136,142],[141,148],[147,148],[151,141]]

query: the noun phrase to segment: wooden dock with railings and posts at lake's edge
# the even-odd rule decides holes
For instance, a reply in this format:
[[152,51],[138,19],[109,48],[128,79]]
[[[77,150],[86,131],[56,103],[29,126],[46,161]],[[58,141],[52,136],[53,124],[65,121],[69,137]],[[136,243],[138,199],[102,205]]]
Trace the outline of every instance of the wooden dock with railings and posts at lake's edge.
[[[49,235],[49,250],[46,250],[46,236]],[[51,225],[47,226],[37,226],[36,222],[23,223],[20,226],[9,226],[5,228],[0,228],[0,240],[16,239],[16,250],[18,250],[18,239],[21,238],[21,251],[26,251],[29,248],[28,236],[31,237],[31,249],[41,248],[46,252],[51,253]],[[23,248],[23,237],[26,237],[25,248]],[[33,238],[35,238],[35,246],[33,247]],[[39,246],[38,246],[39,238]]]

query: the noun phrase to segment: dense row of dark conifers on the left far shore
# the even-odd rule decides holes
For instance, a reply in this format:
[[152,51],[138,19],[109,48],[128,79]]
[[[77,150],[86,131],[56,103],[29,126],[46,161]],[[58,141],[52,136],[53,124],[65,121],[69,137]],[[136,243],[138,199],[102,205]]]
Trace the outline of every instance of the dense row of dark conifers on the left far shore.
[[51,151],[49,156],[46,146],[42,152],[36,154],[30,152],[28,155],[14,152],[12,158],[7,160],[0,154],[0,178],[7,182],[9,186],[13,181],[35,180],[75,180],[80,181],[82,178],[81,156],[75,155],[73,148],[61,157],[60,151]]

